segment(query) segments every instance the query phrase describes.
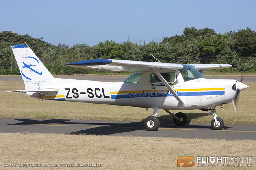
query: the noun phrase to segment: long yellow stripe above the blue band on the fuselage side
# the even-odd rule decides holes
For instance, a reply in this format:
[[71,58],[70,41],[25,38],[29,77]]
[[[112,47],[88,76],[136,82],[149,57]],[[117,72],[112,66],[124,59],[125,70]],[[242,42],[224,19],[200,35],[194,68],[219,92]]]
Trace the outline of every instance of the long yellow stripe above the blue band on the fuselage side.
[[[202,88],[202,89],[173,89],[174,91],[210,91],[210,90],[225,90],[225,88]],[[126,94],[126,93],[143,93],[143,91],[151,92],[151,91],[162,91],[162,90],[135,90],[135,91],[115,91],[110,92],[111,95],[114,94]],[[169,91],[169,90],[163,90]]]

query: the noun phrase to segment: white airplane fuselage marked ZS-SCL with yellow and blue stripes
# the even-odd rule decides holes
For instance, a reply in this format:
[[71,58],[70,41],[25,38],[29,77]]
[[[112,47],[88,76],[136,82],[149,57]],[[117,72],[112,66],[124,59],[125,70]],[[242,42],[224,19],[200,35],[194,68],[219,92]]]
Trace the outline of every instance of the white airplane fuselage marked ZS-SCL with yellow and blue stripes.
[[236,80],[199,78],[184,82],[180,71],[175,72],[177,84],[171,87],[185,101],[185,106],[181,106],[164,85],[152,86],[150,71],[144,72],[137,84],[54,78],[58,92],[41,93],[41,96],[33,92],[27,94],[50,100],[172,110],[214,108],[231,102],[236,95],[232,90]]

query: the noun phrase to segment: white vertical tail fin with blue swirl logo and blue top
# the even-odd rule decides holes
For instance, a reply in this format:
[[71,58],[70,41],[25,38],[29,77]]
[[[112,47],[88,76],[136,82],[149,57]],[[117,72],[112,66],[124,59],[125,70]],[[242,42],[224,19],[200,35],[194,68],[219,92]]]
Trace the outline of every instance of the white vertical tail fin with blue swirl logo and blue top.
[[19,66],[26,90],[38,90],[54,86],[54,77],[46,69],[28,44],[11,46]]

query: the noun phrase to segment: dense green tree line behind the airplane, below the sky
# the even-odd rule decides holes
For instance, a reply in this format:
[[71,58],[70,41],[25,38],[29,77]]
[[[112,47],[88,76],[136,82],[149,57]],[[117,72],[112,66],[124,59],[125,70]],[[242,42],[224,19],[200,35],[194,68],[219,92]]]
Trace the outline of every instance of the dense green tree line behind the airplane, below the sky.
[[[76,44],[58,46],[10,31],[0,33],[0,74],[20,74],[11,45],[28,42],[30,48],[52,74],[95,73],[87,69],[72,68],[65,64],[100,58],[153,61],[152,53],[160,62],[232,64],[226,71],[256,71],[256,33],[250,28],[217,34],[213,29],[185,28],[182,35],[164,37],[163,40],[133,43],[107,40],[95,46]],[[207,59],[214,58],[214,60]]]

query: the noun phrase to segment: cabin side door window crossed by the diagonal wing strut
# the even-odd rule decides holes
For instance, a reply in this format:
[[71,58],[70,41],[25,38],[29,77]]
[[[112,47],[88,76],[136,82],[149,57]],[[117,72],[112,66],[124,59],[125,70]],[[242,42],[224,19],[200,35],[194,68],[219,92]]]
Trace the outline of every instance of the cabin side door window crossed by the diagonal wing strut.
[[[171,73],[160,73],[163,78],[170,84],[177,84],[177,76],[175,72],[171,72]],[[150,75],[150,84],[152,86],[163,86],[163,82],[161,82],[161,80],[154,74],[152,73]]]

